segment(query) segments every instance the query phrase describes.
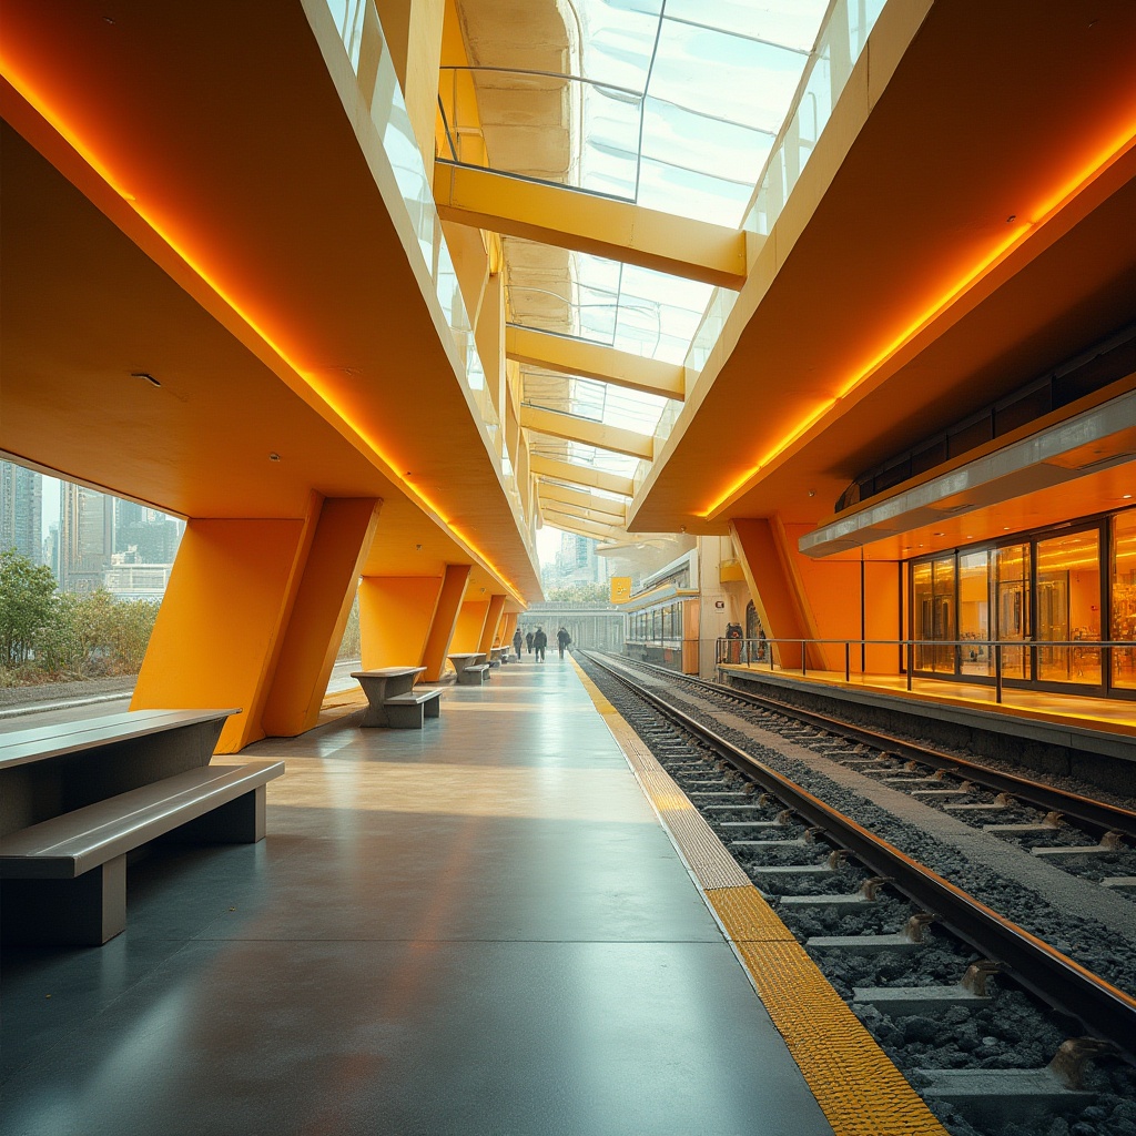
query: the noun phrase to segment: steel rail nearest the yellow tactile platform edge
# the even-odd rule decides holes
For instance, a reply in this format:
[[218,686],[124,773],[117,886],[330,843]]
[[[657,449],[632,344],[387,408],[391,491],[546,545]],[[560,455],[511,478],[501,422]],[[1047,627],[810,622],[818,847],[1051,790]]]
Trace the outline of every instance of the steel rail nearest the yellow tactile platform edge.
[[602,659],[588,652],[582,653],[671,721],[700,737],[735,768],[753,777],[811,827],[822,829],[869,871],[936,914],[963,942],[1001,963],[1004,971],[1025,989],[1079,1021],[1088,1033],[1112,1042],[1129,1055],[1136,1054],[1136,999],[1003,918],[685,711],[638,686]]

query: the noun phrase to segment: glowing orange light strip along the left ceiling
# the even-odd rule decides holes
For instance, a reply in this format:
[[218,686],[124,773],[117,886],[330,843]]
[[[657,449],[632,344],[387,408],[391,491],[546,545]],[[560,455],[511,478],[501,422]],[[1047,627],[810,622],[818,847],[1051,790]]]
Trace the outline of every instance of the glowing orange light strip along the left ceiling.
[[312,393],[318,396],[318,399],[341,423],[350,428],[351,433],[353,433],[367,446],[367,449],[370,450],[373,457],[377,459],[377,465],[383,469],[383,473],[392,482],[394,482],[394,484],[396,484],[402,492],[416,500],[428,516],[444,525],[460,544],[471,552],[474,557],[481,560],[494,574],[494,576],[501,580],[501,583],[512,593],[513,599],[518,602],[524,602],[517,585],[503,571],[501,571],[501,569],[498,568],[496,565],[487,556],[485,556],[485,553],[471,540],[469,540],[465,533],[451,524],[441,509],[433,501],[431,501],[425,493],[421,493],[419,490],[409,485],[396,473],[399,467],[387,457],[382,445],[365,429],[351,420],[348,411],[336,404],[334,394],[328,391],[323,383],[320,383],[319,378],[300,367],[273,339],[273,336],[269,335],[269,333],[265,331],[265,328],[252,316],[250,316],[241,307],[241,304],[207,272],[201,262],[175,237],[173,237],[160,224],[160,222],[156,220],[142,206],[139,204],[134,194],[123,187],[122,183],[114,175],[114,173],[91,151],[91,149],[74,133],[74,131],[67,126],[62,118],[51,109],[51,107],[30,84],[24,83],[18,78],[7,60],[0,59],[0,73],[2,73],[3,78],[11,84],[12,89],[28,103],[28,106],[31,106],[43,118],[43,120],[47,122],[51,128],[67,142],[75,153],[78,154],[78,157],[92,170],[92,173],[94,173],[99,179],[102,181],[119,198],[127,202],[135,215],[151,229],[151,232],[153,232],[154,235],[157,235],[162,243],[172,252],[174,252],[175,256],[177,256],[182,262],[199,279],[201,279],[201,282],[204,283],[231,311],[234,312],[234,315],[241,319],[241,321],[273,352],[273,354],[281,360],[282,364],[284,364],[284,366],[293,375],[295,375],[306,386],[309,387],[309,390],[312,391]]

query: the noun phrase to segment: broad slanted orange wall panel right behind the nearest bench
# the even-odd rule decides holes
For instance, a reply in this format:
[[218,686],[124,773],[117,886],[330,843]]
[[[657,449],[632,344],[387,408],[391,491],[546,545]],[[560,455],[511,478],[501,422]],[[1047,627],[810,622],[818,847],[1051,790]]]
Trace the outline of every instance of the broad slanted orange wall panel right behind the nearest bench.
[[265,736],[261,712],[295,601],[309,520],[191,520],[132,710],[240,708],[218,753]]

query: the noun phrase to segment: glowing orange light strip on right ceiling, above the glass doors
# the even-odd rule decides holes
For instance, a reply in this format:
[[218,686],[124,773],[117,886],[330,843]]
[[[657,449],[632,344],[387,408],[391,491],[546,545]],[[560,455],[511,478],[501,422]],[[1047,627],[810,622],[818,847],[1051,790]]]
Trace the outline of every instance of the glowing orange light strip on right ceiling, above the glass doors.
[[1050,220],[1068,204],[1078,193],[1085,190],[1093,181],[1109,168],[1117,159],[1127,153],[1136,144],[1136,124],[1127,126],[1113,142],[1102,150],[1092,164],[1085,166],[1072,178],[1067,181],[1059,190],[1055,190],[1045,201],[1037,207],[1033,220],[1019,222],[1014,225],[1010,235],[1000,241],[982,260],[979,260],[964,276],[958,279],[939,299],[932,303],[922,315],[912,320],[899,335],[896,335],[870,362],[861,368],[850,378],[836,393],[819,409],[808,417],[801,419],[796,426],[790,431],[761,460],[746,470],[729,488],[726,490],[704,512],[699,516],[703,518],[712,517],[722,506],[729,503],[743,493],[753,479],[767,469],[777,458],[784,454],[792,445],[800,441],[813,426],[829,414],[838,403],[847,398],[853,391],[869,379],[885,362],[892,359],[902,348],[907,346],[921,331],[937,319],[947,308],[951,307],[961,295],[970,290],[992,268],[1004,260],[1014,251],[1030,232]]

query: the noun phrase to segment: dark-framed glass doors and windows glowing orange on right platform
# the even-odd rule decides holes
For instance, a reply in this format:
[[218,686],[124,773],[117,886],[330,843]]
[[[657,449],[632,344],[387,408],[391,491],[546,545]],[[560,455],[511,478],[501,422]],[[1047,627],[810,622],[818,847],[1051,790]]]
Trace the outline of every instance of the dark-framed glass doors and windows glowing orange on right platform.
[[1136,510],[912,561],[909,586],[917,674],[1136,695]]

